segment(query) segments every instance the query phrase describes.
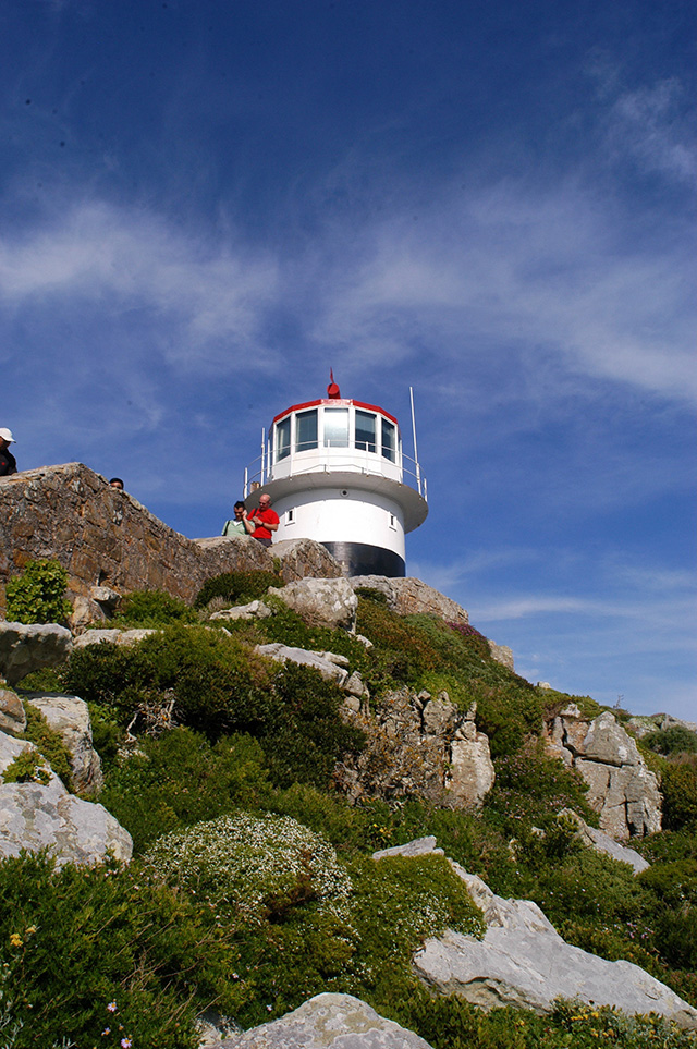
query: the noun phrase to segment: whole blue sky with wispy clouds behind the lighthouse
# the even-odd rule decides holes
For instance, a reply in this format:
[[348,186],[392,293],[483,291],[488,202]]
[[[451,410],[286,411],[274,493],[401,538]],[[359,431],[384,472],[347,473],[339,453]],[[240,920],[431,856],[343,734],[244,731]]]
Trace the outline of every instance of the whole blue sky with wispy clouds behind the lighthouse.
[[260,430],[402,422],[407,571],[697,720],[684,0],[5,0],[0,425],[218,534]]

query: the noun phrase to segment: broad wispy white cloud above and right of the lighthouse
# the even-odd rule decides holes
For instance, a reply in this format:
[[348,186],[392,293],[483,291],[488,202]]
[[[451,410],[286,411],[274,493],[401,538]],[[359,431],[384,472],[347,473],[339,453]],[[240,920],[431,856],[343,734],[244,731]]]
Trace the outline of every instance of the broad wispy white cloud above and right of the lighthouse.
[[637,242],[633,222],[573,181],[443,191],[417,224],[398,215],[369,231],[351,280],[343,255],[313,337],[359,347],[363,365],[426,349],[454,365],[514,353],[533,371],[553,354],[695,401],[688,237]]

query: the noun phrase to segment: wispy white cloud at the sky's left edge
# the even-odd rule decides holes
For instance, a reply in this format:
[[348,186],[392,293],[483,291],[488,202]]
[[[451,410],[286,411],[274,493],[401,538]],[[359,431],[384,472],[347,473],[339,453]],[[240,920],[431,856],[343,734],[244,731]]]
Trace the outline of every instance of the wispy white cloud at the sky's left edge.
[[94,315],[105,334],[118,326],[122,349],[137,330],[140,352],[151,336],[180,369],[268,365],[261,329],[277,285],[278,266],[261,253],[213,247],[152,211],[103,202],[0,242],[7,314],[69,317],[77,330]]

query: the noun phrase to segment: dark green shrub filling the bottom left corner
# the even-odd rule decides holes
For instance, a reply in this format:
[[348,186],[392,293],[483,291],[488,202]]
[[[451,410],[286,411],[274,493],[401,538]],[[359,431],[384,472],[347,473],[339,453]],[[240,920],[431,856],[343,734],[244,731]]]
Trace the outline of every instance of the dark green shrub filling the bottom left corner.
[[[60,869],[46,854],[0,863],[0,943],[13,1049],[194,1049],[212,999],[236,1008],[235,954],[206,908],[113,864]],[[119,1040],[107,1041],[106,1028]]]

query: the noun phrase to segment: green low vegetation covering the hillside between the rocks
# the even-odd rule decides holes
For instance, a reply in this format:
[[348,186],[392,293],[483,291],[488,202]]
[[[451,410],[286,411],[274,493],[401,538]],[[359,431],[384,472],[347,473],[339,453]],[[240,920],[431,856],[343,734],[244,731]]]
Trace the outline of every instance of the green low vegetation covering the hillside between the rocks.
[[[279,583],[221,578],[199,595],[196,619],[217,598],[252,600]],[[281,606],[225,632],[192,612],[134,596],[122,622],[157,624],[157,634],[75,650],[51,672],[57,688],[89,703],[99,800],[133,835],[134,858],[0,864],[0,1045],[193,1049],[196,1015],[211,1004],[248,1027],[322,990],[357,995],[435,1049],[692,1044],[663,1021],[607,1009],[485,1015],[431,997],[412,975],[414,950],[447,927],[479,935],[480,915],[443,857],[370,858],[435,834],[494,892],[535,900],[570,942],[636,962],[697,1005],[697,768],[685,740],[650,744],[668,829],[637,844],[652,866],[635,877],[582,846],[559,815],[594,819],[583,783],[539,742],[543,717],[571,697],[494,662],[473,629],[400,618],[375,591],[358,613],[371,649]],[[333,684],[255,656],[268,641],[345,655],[375,706],[405,685],[445,690],[462,709],[476,702],[497,769],[482,810],[416,797],[350,805],[332,772],[362,733],[342,721]]]

